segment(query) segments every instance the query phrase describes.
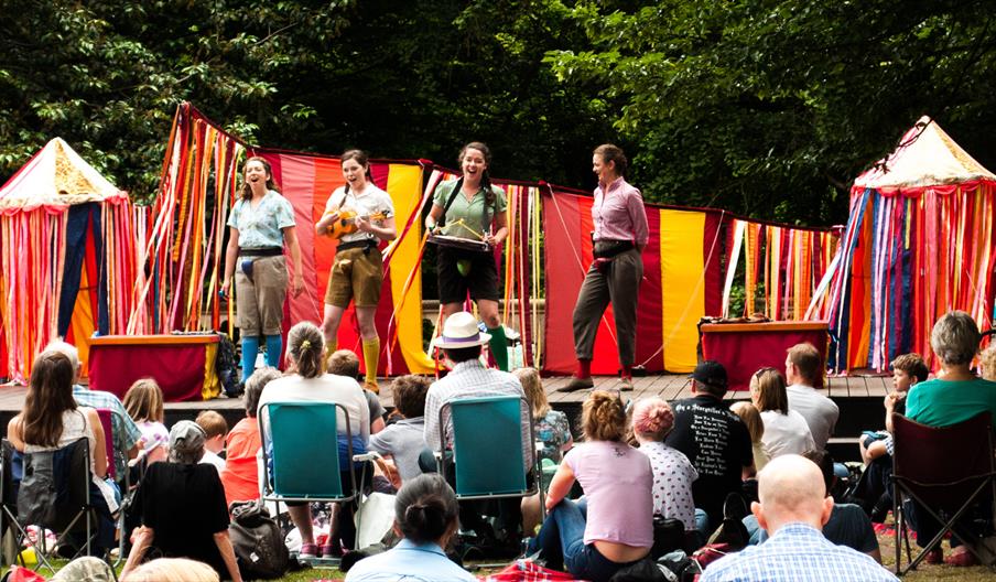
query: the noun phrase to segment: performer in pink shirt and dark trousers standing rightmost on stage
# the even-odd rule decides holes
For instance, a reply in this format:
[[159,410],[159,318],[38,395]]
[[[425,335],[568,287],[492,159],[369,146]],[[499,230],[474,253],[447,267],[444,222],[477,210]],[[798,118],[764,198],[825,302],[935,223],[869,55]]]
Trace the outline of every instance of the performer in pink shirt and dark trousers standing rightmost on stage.
[[636,346],[637,293],[643,279],[640,254],[647,246],[649,231],[643,197],[626,182],[626,154],[605,143],[595,148],[592,171],[598,176],[592,218],[595,231],[595,260],[585,274],[574,304],[574,352],[577,371],[562,388],[565,391],[592,388],[592,356],[598,322],[609,302],[616,320],[622,390],[632,389],[632,364]]

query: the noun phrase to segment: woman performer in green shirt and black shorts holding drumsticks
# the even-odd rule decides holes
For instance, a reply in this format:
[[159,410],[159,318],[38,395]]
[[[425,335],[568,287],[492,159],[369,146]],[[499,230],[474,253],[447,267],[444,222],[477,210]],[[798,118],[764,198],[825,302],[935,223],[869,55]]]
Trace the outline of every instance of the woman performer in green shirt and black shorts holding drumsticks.
[[505,191],[491,184],[488,176],[491,150],[486,144],[467,143],[457,162],[461,177],[436,186],[425,218],[425,229],[433,235],[430,241],[439,249],[436,272],[443,319],[461,311],[469,293],[487,325],[491,355],[498,368],[508,371],[508,342],[498,319],[501,294],[495,265],[495,248],[508,237],[508,202]]

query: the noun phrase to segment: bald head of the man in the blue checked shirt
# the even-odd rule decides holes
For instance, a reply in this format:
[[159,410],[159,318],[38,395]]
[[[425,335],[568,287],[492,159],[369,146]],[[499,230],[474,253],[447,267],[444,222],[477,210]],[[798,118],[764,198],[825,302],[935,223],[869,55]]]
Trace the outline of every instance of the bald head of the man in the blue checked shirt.
[[830,519],[833,498],[826,496],[823,473],[812,461],[799,455],[778,456],[757,478],[760,503],[753,504],[751,509],[769,534],[793,521],[822,528]]

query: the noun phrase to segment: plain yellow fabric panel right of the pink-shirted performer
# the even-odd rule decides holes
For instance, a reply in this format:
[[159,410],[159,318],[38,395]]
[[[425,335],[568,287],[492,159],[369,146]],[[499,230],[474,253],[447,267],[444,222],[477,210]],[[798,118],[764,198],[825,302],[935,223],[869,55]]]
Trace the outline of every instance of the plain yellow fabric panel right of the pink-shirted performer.
[[699,319],[705,315],[705,214],[661,209],[661,330],[664,369],[695,369]]

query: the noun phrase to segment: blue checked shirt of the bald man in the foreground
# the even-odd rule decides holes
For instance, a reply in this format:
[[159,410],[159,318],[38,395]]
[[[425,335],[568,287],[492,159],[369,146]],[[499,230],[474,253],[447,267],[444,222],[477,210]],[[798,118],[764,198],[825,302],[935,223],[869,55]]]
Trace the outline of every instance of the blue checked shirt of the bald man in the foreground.
[[760,546],[716,560],[701,582],[877,582],[898,578],[870,556],[844,546],[834,546],[819,529],[805,524],[788,524]]

